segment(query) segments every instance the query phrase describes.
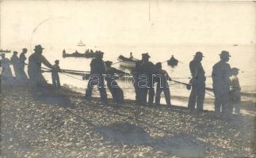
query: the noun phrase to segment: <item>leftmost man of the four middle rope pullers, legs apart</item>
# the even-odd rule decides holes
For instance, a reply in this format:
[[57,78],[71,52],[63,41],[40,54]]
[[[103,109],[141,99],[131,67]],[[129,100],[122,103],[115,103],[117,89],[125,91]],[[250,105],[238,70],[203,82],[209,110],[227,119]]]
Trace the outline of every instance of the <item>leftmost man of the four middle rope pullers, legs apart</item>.
[[105,62],[102,59],[103,54],[103,52],[98,51],[96,57],[90,62],[90,79],[86,89],[86,100],[91,100],[92,90],[94,86],[97,86],[101,94],[101,103],[107,103],[107,93],[104,83]]

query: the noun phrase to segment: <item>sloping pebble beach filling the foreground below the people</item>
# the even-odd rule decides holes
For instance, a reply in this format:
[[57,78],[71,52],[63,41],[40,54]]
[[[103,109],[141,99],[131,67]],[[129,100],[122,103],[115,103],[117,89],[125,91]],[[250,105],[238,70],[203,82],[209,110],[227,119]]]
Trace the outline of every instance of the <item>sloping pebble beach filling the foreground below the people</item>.
[[[255,102],[242,110],[255,111]],[[252,113],[197,113],[132,100],[102,105],[67,87],[1,93],[2,157],[254,157],[255,134]]]

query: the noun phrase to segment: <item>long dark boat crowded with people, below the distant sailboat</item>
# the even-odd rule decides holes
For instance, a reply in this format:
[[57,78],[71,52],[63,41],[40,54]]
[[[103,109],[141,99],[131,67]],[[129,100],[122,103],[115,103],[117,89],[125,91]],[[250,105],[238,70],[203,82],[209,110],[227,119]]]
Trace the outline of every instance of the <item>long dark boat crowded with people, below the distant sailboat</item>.
[[67,57],[75,57],[75,58],[94,58],[97,53],[101,51],[93,51],[93,50],[86,50],[85,53],[79,53],[78,51],[75,51],[72,54],[67,54],[65,50],[63,50],[63,58]]

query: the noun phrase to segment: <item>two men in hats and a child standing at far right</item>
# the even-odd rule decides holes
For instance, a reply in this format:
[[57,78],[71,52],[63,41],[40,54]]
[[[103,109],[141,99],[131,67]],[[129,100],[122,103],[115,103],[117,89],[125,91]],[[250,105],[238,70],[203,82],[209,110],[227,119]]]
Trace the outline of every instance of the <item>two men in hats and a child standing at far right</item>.
[[[192,85],[192,90],[189,96],[189,109],[194,109],[197,106],[198,111],[203,110],[205,96],[205,81],[204,68],[201,65],[203,54],[198,51],[194,55],[193,60],[189,63],[189,69],[192,75],[189,84]],[[241,88],[239,85],[238,68],[232,68],[227,63],[229,61],[228,51],[221,51],[220,62],[217,62],[212,67],[212,88],[215,96],[215,111],[217,113],[229,113],[235,107],[235,113],[240,113]]]

